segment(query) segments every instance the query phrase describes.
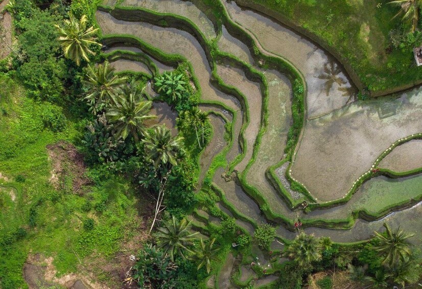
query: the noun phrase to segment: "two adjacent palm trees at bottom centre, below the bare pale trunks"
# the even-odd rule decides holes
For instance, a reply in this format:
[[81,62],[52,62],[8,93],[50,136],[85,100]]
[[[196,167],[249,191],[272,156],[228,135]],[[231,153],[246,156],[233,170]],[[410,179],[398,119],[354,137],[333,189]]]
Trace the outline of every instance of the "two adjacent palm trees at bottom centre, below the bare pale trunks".
[[211,271],[211,262],[216,260],[219,248],[214,247],[215,238],[204,242],[200,239],[200,247],[194,250],[189,249],[192,241],[196,238],[198,232],[191,232],[191,223],[185,219],[177,220],[174,216],[167,222],[163,222],[161,227],[157,228],[155,237],[158,240],[158,247],[169,254],[173,261],[176,254],[182,258],[189,258],[198,262],[198,270],[205,266],[207,273]]

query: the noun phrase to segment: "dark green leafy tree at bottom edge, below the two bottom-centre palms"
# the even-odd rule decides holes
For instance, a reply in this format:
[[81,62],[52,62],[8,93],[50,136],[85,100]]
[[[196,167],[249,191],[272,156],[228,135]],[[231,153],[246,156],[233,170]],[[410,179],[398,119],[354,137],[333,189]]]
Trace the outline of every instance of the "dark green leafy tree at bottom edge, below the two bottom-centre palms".
[[139,252],[133,265],[133,279],[141,288],[174,288],[177,265],[151,244]]

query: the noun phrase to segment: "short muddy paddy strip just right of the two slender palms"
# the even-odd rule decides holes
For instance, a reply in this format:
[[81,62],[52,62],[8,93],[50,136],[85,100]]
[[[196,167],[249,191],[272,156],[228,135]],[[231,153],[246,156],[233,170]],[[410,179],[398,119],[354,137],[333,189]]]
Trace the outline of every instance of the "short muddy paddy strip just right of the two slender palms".
[[200,157],[200,168],[201,173],[198,179],[198,188],[202,186],[202,181],[204,180],[205,173],[208,171],[209,166],[214,160],[214,157],[226,146],[226,141],[224,140],[225,132],[225,122],[221,117],[215,116],[213,114],[208,115],[209,121],[213,126],[213,138],[209,144],[205,147],[204,151],[201,153]]

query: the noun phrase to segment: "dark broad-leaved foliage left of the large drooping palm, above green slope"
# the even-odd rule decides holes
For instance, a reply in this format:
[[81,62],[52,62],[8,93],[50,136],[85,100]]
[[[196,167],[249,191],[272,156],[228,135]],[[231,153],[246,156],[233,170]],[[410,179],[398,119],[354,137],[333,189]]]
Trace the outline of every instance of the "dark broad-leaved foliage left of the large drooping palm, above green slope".
[[99,163],[113,168],[125,149],[125,142],[121,137],[116,137],[113,125],[107,123],[104,114],[88,124],[82,143],[88,163]]

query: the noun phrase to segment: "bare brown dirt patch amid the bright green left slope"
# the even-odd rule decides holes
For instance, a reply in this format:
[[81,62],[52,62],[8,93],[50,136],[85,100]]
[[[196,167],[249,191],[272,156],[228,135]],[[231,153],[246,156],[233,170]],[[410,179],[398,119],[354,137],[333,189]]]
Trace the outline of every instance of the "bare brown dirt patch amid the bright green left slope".
[[85,176],[86,166],[83,155],[75,146],[61,141],[48,145],[46,148],[53,165],[50,182],[56,189],[65,189],[66,178],[72,179],[72,190],[76,193],[90,183]]

